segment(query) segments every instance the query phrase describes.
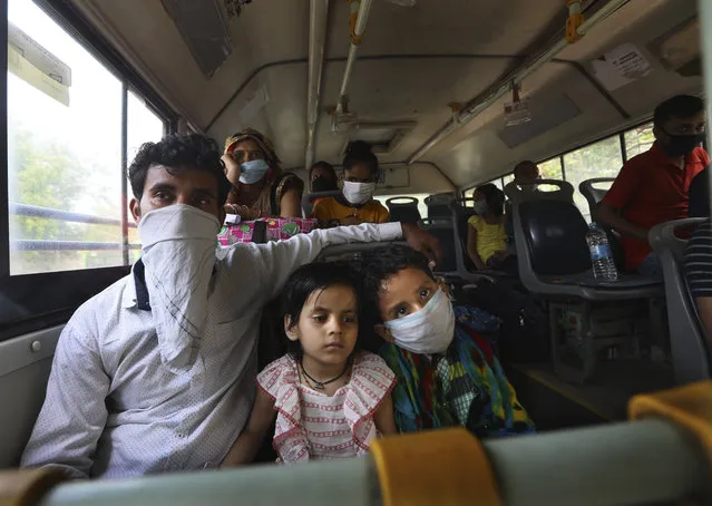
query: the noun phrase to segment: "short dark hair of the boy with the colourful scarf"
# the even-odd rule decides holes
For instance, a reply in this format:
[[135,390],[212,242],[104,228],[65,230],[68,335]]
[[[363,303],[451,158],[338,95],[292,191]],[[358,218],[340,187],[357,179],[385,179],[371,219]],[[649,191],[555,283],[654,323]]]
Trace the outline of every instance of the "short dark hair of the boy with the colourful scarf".
[[392,275],[406,269],[416,269],[436,281],[429,263],[430,261],[422,253],[399,244],[379,247],[364,254],[360,262],[364,323],[367,325],[381,323],[378,309],[379,293],[383,282]]

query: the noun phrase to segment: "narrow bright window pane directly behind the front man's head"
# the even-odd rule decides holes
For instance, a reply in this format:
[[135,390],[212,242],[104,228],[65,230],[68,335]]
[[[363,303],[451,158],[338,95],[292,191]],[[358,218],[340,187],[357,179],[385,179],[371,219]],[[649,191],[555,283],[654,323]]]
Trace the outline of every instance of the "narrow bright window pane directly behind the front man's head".
[[[144,143],[157,143],[163,138],[165,121],[130,90],[127,97],[127,115],[126,145],[127,160],[130,165]],[[130,201],[134,196],[130,182],[127,185],[127,191],[126,197]],[[129,261],[134,263],[140,256],[140,242],[130,212],[128,213],[128,226]]]

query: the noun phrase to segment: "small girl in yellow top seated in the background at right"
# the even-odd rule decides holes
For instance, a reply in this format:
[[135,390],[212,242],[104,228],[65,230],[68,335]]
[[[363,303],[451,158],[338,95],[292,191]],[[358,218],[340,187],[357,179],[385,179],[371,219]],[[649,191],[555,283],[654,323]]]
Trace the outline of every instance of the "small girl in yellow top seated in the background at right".
[[505,194],[489,183],[478,187],[474,196],[477,214],[467,222],[467,253],[478,271],[504,269],[505,262],[514,259],[507,252]]

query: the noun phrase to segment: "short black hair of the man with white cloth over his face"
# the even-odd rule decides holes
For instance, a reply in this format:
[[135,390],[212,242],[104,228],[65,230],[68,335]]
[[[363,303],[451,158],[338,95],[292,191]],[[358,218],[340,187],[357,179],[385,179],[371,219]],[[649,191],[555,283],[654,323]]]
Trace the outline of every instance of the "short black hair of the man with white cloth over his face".
[[217,143],[212,138],[198,134],[169,135],[158,143],[144,144],[128,167],[128,179],[137,200],[144,194],[148,169],[156,165],[163,165],[169,174],[185,169],[211,173],[217,181],[220,205],[227,201],[232,184],[225,176]]

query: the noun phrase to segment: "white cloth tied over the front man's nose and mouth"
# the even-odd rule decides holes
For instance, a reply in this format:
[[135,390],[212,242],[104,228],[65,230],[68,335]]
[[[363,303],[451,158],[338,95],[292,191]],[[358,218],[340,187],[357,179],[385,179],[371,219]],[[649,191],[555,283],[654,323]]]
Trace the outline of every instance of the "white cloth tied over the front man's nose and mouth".
[[184,204],[150,211],[138,223],[160,358],[175,372],[192,366],[203,338],[218,231],[215,216]]

